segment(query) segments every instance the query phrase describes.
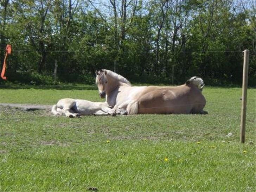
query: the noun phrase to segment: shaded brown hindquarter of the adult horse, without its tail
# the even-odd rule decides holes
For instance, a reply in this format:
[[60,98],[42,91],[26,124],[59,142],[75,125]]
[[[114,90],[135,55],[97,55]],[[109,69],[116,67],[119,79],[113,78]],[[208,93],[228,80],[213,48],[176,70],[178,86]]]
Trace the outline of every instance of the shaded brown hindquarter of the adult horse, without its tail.
[[138,100],[139,114],[191,113],[198,93],[186,85],[149,86]]

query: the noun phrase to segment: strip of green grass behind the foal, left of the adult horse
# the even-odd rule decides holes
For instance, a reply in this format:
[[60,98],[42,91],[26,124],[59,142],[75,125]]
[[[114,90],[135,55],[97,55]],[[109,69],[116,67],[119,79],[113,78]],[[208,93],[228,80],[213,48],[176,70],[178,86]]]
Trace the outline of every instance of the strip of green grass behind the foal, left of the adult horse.
[[61,98],[104,102],[96,85],[63,84],[56,86],[1,86],[1,103],[55,104]]

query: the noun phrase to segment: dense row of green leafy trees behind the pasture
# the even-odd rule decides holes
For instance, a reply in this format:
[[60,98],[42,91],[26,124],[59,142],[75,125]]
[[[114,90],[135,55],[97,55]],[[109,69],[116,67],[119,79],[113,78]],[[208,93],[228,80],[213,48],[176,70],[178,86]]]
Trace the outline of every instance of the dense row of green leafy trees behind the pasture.
[[1,1],[1,63],[12,44],[8,70],[20,82],[30,82],[23,73],[53,73],[57,60],[60,81],[89,83],[116,60],[118,73],[140,82],[168,83],[174,66],[177,84],[195,75],[241,84],[249,49],[256,86],[254,1],[103,2]]

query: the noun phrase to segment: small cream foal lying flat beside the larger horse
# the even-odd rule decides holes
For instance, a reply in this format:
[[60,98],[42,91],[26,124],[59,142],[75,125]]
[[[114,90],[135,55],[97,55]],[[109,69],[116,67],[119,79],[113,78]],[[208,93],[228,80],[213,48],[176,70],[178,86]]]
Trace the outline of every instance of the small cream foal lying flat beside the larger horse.
[[107,102],[91,102],[87,100],[65,98],[52,106],[54,115],[79,117],[80,115],[115,115]]

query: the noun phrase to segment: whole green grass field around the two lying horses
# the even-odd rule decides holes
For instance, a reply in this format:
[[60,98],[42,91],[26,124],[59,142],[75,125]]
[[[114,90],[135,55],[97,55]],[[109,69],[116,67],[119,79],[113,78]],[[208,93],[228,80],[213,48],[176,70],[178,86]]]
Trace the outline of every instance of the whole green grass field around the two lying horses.
[[[0,191],[256,191],[256,89],[245,144],[241,92],[205,87],[208,115],[68,119],[1,106]],[[65,97],[102,101],[95,85],[0,89],[1,103]]]

